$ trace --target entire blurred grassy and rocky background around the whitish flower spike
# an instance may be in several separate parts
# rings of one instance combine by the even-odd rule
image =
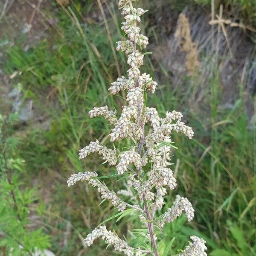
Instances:
[[[256,1],[140,0],[140,7],[149,10],[142,26],[153,52],[144,70],[159,84],[148,104],[184,113],[195,131],[189,142],[175,134],[173,163],[177,192],[196,215],[192,223],[180,217],[167,225],[159,246],[172,240],[174,255],[195,234],[210,256],[255,256]],[[3,122],[0,143],[1,256],[22,244],[22,255],[33,255],[32,245],[60,256],[119,255],[101,242],[90,250],[83,242],[116,214],[111,204],[100,204],[86,183],[68,189],[66,180],[84,170],[111,172],[96,155],[79,161],[78,152],[95,137],[108,143],[107,122],[87,112],[121,107],[108,92],[127,70],[114,49],[123,37],[120,22],[112,0],[0,2],[0,113],[16,113]],[[10,160],[18,164],[6,167]],[[166,205],[172,200],[170,192]],[[133,216],[107,223],[131,244],[127,230],[138,225]]]

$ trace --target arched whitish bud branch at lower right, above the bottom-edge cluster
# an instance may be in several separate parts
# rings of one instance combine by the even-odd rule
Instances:
[[[189,202],[187,198],[183,198],[180,195],[176,195],[176,200],[173,203],[172,209],[169,208],[167,212],[164,214],[163,220],[165,222],[172,222],[177,217],[179,217],[182,212],[185,212],[185,215],[188,219],[188,221],[192,221],[194,218],[194,209],[192,207],[192,204]]]

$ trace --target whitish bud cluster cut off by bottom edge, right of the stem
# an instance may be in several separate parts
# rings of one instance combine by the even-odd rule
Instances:
[[[179,256],[207,256],[205,250],[207,247],[205,246],[204,239],[200,239],[197,236],[190,236],[190,239],[193,242],[189,242],[189,245],[183,250]]]

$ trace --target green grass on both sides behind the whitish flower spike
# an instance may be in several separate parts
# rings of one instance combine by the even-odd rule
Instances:
[[[97,155],[84,161],[79,161],[77,155],[90,140],[96,137],[105,140],[110,131],[105,120],[90,119],[87,112],[101,105],[120,110],[119,98],[110,96],[107,90],[117,73],[104,25],[86,23],[82,26],[76,9],[69,8],[66,12],[58,13],[62,37],[45,40],[29,52],[23,52],[19,45],[9,48],[4,71],[23,72],[18,82],[23,85],[25,97],[32,98],[41,113],[51,119],[47,131],[40,126],[33,129],[33,121],[30,123],[31,129],[23,137],[20,154],[26,160],[24,179],[29,180],[28,183],[32,178],[39,181],[39,191],[46,204],[44,228],[52,237],[52,250],[61,256],[79,252],[103,256],[106,255],[104,246],[84,249],[81,238],[116,212],[108,202],[99,205],[101,199],[96,189],[85,183],[68,189],[66,180],[71,173],[87,169],[100,175],[113,172],[113,167],[99,163]],[[113,11],[113,17],[116,16]],[[115,24],[110,19],[109,26],[115,28]],[[119,27],[116,27],[112,31],[113,42],[119,35]],[[118,59],[124,73],[127,67],[124,55],[118,53]],[[157,63],[151,62],[148,56],[147,59],[144,70],[154,74]],[[209,255],[256,255],[256,127],[247,128],[242,96],[233,109],[218,108],[220,79],[217,71],[212,74],[209,88],[205,89],[207,96],[196,107],[192,108],[190,98],[196,90],[196,79],[185,78],[185,90],[184,84],[169,84],[168,74],[156,95],[148,99],[148,105],[156,107],[160,114],[173,109],[185,113],[185,119],[190,120],[189,125],[195,131],[192,141],[175,135],[179,150],[173,157],[174,163],[178,163],[177,193],[186,195],[192,202],[195,221],[187,224],[180,218],[166,226],[160,248],[161,244],[168,244],[175,238],[171,252],[177,253],[177,247],[186,244],[190,235],[197,234],[207,241]],[[121,147],[122,143],[116,146]],[[123,185],[115,179],[105,182],[115,189]],[[44,191],[49,193],[44,194]],[[173,197],[170,193],[169,205]],[[63,244],[68,223],[71,223],[71,231],[67,244]],[[111,220],[108,226],[121,236],[128,236],[133,244],[136,241],[132,241],[126,230],[132,230],[137,224],[133,218],[125,217],[117,224]],[[118,255],[111,251],[112,254]]]

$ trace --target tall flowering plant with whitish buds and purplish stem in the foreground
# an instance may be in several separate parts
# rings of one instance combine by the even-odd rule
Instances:
[[[126,241],[119,239],[105,226],[96,228],[86,237],[85,243],[88,246],[93,244],[95,239],[101,237],[107,244],[112,244],[114,250],[125,255],[142,256],[149,253],[158,256],[157,248],[153,246],[155,235],[152,230],[150,231],[150,227],[152,225],[151,229],[153,229],[154,214],[165,204],[164,197],[167,194],[167,188],[177,188],[177,180],[170,169],[173,147],[171,136],[173,132],[180,132],[192,139],[194,132],[191,127],[185,125],[180,112],[166,112],[166,115],[161,117],[155,108],[145,106],[145,93],[148,91],[154,93],[157,89],[157,82],[149,74],[141,73],[139,69],[143,65],[145,56],[141,50],[147,47],[148,38],[140,34],[141,29],[138,27],[141,16],[146,11],[134,8],[135,1],[118,0],[118,5],[124,16],[121,29],[128,38],[116,42],[116,50],[127,55],[129,69],[126,76],[117,78],[108,89],[112,94],[125,90],[122,96],[126,94],[124,96],[126,105],[122,106],[122,112],[119,115],[116,111],[110,111],[108,106],[95,107],[89,112],[91,118],[103,116],[113,125],[109,134],[111,143],[125,138],[128,138],[129,142],[127,145],[123,145],[125,150],[119,151],[115,148],[107,148],[96,140],[82,148],[79,153],[79,159],[87,157],[91,152],[99,153],[105,161],[104,163],[108,162],[109,165],[115,166],[117,175],[122,175],[121,179],[123,180],[126,179],[127,189],[120,190],[116,195],[97,177],[96,172],[73,174],[67,180],[67,184],[72,186],[77,181],[87,180],[91,186],[97,188],[103,200],[111,201],[120,212],[127,208],[139,211],[140,220],[148,227],[148,234],[145,234],[145,238],[150,237],[154,252],[129,247]],[[145,128],[147,123],[151,126],[148,129]],[[143,168],[144,166],[146,168]],[[133,205],[126,203],[118,195],[125,196],[126,198],[124,198],[130,200]],[[192,204],[187,198],[177,195],[172,208],[160,215],[156,224],[163,227],[166,222],[174,221],[182,212],[185,213],[188,221],[194,217]],[[191,239],[193,242],[190,242],[179,256],[205,256],[205,241],[195,236],[192,236]]]

